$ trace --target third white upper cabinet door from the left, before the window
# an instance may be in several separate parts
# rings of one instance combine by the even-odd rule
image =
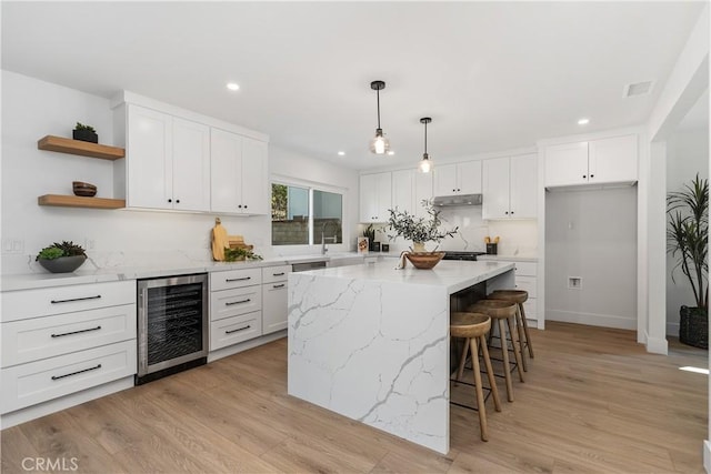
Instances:
[[[210,200],[212,212],[239,213],[242,200],[242,137],[210,130]]]

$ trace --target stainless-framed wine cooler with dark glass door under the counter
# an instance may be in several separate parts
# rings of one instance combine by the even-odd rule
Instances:
[[[140,385],[207,363],[208,275],[138,281]]]

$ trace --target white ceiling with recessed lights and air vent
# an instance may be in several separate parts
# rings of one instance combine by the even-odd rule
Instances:
[[[435,163],[644,123],[703,6],[3,1],[2,68],[129,90],[353,169],[414,165],[422,117]],[[373,80],[393,157],[368,151]],[[641,81],[650,94],[623,98]]]

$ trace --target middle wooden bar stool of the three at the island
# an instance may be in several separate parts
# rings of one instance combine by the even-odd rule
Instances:
[[[523,380],[523,366],[521,363],[521,354],[519,353],[519,344],[517,344],[515,331],[513,330],[517,305],[504,300],[481,300],[467,309],[472,313],[484,313],[499,322],[499,335],[501,336],[501,355],[503,359],[503,377],[507,382],[507,396],[509,402],[513,402],[513,382],[511,380],[511,371],[515,367],[519,372],[519,380]],[[503,321],[507,321],[509,335],[511,336],[511,349],[513,350],[514,363],[509,360],[509,344],[507,342],[507,332]],[[493,332],[493,330],[492,330]]]

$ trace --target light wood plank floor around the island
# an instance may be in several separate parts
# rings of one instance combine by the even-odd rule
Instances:
[[[488,403],[488,443],[452,406],[448,455],[288,396],[284,339],[4,430],[2,473],[26,457],[76,457],[84,473],[703,472],[707,376],[678,367],[707,367],[705,351],[652,355],[630,331],[547,326],[515,402]]]

